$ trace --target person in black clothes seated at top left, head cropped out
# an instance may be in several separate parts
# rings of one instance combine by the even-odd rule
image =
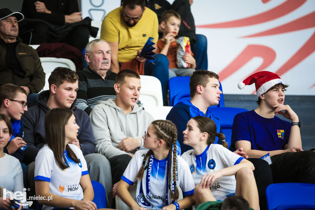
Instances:
[[[32,22],[30,44],[50,43],[47,23],[62,26],[82,20],[82,12],[79,12],[77,0],[24,0],[22,13],[26,18],[44,20]],[[89,42],[89,28],[83,25],[77,26],[61,42],[70,44],[82,51]]]

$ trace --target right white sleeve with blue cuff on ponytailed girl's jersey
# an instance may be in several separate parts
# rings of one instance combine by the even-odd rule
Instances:
[[[234,152],[231,152],[230,150],[226,149],[222,145],[215,144],[213,146],[216,146],[217,156],[220,157],[221,161],[228,167],[234,166],[240,163],[243,159],[245,159],[239,155],[236,155]]]

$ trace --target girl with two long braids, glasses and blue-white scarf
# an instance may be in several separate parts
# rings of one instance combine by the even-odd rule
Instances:
[[[169,120],[155,120],[148,127],[143,136],[147,149],[135,153],[117,188],[117,194],[131,209],[178,210],[194,205],[195,185],[187,163],[176,155],[176,138],[176,126]],[[136,181],[134,200],[128,188]]]

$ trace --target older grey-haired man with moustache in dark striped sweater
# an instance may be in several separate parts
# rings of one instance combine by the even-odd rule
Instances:
[[[77,72],[79,90],[76,106],[90,114],[97,102],[116,98],[114,84],[117,73],[109,70],[111,48],[103,39],[94,39],[86,45],[85,60],[88,67]],[[137,102],[139,103],[140,101]]]

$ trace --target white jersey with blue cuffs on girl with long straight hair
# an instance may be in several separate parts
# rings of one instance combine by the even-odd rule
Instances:
[[[80,162],[75,163],[69,158],[67,151],[65,151],[65,157],[69,167],[63,169],[56,162],[53,151],[49,146],[44,145],[43,148],[38,151],[35,159],[35,181],[42,180],[49,182],[49,192],[54,195],[82,200],[83,190],[80,186],[80,179],[82,175],[89,174],[88,168],[82,151],[74,144],[68,145],[77,155]],[[49,210],[53,209],[53,207],[44,205],[43,209]]]

